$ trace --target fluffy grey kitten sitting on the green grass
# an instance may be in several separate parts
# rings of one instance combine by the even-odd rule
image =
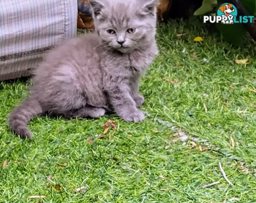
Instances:
[[[28,121],[37,115],[144,119],[137,107],[142,74],[158,53],[157,0],[90,0],[96,33],[53,50],[35,71],[31,95],[10,114],[11,129],[32,138]]]

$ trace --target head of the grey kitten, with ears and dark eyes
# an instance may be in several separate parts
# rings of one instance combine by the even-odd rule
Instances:
[[[90,0],[96,31],[109,49],[129,53],[155,40],[158,0]]]

